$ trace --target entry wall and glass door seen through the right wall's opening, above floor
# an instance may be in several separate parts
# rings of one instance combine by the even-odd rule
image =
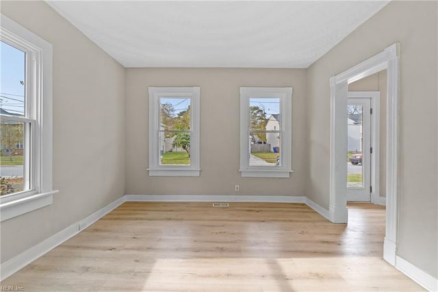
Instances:
[[[385,205],[386,70],[348,85],[347,201]],[[384,81],[384,82],[383,82]],[[372,89],[376,91],[357,91]],[[381,94],[384,95],[381,100]],[[383,156],[383,159],[385,156]],[[382,173],[383,172],[383,173]]]

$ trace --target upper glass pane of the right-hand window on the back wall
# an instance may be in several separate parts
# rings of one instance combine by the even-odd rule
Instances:
[[[249,105],[250,130],[280,130],[279,98],[250,98]]]

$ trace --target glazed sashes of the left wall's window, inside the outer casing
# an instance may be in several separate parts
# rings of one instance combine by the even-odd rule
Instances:
[[[32,143],[36,123],[26,75],[27,53],[1,40],[0,196],[35,191]]]

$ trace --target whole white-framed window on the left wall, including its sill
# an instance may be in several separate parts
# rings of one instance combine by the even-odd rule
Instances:
[[[49,42],[1,15],[1,221],[52,203]]]

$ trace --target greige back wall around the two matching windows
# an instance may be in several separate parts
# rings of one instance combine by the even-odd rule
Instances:
[[[296,195],[305,193],[305,69],[127,69],[126,192],[146,195]],[[201,87],[201,176],[149,177],[149,86]],[[290,178],[241,178],[240,86],[292,86]],[[240,192],[235,193],[235,184]]]

